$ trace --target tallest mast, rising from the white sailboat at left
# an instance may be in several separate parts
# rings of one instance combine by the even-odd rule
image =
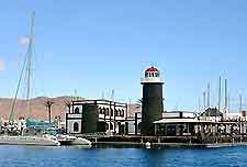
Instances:
[[[30,94],[31,94],[31,75],[32,75],[32,57],[33,57],[33,45],[34,45],[34,16],[35,13],[32,14],[32,23],[31,23],[31,34],[30,34],[30,43],[29,43],[29,52],[27,52],[27,66],[26,66],[26,114],[27,118],[31,116],[31,108],[30,108]]]

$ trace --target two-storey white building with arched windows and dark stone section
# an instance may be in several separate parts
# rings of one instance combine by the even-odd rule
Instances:
[[[66,132],[83,134],[106,132],[111,134],[127,133],[127,104],[110,100],[72,101],[66,113]]]

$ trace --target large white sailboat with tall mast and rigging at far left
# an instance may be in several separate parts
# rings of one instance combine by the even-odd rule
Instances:
[[[14,96],[14,99],[12,101],[10,118],[9,118],[9,125],[8,125],[8,134],[0,136],[0,144],[11,144],[11,145],[42,145],[42,146],[58,146],[60,143],[58,142],[56,136],[49,135],[49,134],[31,134],[25,133],[29,131],[27,123],[34,124],[34,121],[31,121],[31,108],[30,108],[30,87],[31,87],[31,66],[32,66],[32,56],[33,56],[33,45],[34,45],[34,16],[33,13],[32,16],[32,26],[31,26],[31,36],[29,40],[29,48],[27,48],[27,55],[24,60],[23,68],[21,70],[21,76],[18,84],[18,89]],[[18,130],[16,124],[14,123],[13,114],[14,114],[14,108],[15,102],[18,98],[18,92],[20,89],[21,80],[24,70],[26,69],[26,85],[27,85],[27,91],[26,91],[26,113],[27,119],[25,122],[25,125],[21,125],[21,133],[13,133]],[[40,123],[36,123],[36,125],[40,125]],[[42,124],[44,125],[44,124]],[[33,127],[33,126],[32,126]],[[35,131],[35,130],[34,130]]]

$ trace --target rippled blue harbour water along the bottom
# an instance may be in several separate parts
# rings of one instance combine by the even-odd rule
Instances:
[[[205,149],[0,146],[0,167],[247,166],[247,147]]]

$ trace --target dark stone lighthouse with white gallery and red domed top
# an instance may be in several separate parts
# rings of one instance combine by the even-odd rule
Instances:
[[[149,67],[145,70],[145,77],[142,78],[143,99],[142,99],[142,135],[154,135],[155,125],[153,122],[162,119],[162,80],[160,73],[156,67]]]

